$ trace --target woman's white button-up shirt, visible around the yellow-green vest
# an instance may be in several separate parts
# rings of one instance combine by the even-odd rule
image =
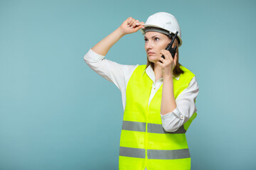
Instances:
[[[122,94],[122,105],[123,108],[125,108],[127,84],[129,78],[134,72],[134,69],[136,69],[139,64],[118,64],[117,62],[112,62],[105,59],[105,56],[97,54],[91,48],[84,56],[84,60],[87,65],[97,74],[100,74],[100,76],[104,77],[118,87]],[[155,81],[154,70],[150,65],[146,68],[145,72],[153,81],[151,94],[149,96],[150,103],[151,99],[156,94],[156,91],[159,89],[161,84],[163,84],[163,78]],[[177,80],[179,79],[179,77],[174,78]],[[197,111],[195,101],[196,97],[198,96],[198,91],[199,87],[196,81],[196,77],[193,77],[188,87],[177,96],[177,107],[174,109],[174,111],[172,111],[171,113],[166,113],[165,115],[161,115],[161,113],[159,113],[161,115],[161,121],[164,130],[166,130],[167,132],[175,132],[176,130],[178,130],[178,128],[181,127],[181,125],[186,123],[186,121],[191,118],[193,113]]]

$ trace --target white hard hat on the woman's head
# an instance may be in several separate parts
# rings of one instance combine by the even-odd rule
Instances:
[[[149,18],[147,18],[144,26],[145,28],[140,29],[140,31],[142,32],[142,35],[145,35],[145,33],[149,30],[164,33],[166,35],[175,34],[176,31],[178,31],[178,35],[177,35],[179,40],[178,47],[181,47],[182,45],[181,28],[178,25],[178,21],[173,15],[171,15],[171,13],[166,13],[166,12],[154,13],[153,15],[149,16]],[[148,28],[153,28],[153,29],[148,29]],[[154,28],[161,28],[164,31],[161,31],[160,29],[159,29],[160,31],[154,30]]]

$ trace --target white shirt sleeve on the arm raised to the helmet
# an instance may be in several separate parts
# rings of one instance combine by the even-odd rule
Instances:
[[[126,87],[127,77],[137,65],[124,65],[105,59],[91,48],[84,56],[85,63],[101,77],[115,84],[120,91]]]

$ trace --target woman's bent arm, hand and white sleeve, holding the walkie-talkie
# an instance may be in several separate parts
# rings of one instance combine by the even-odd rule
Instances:
[[[168,50],[160,52],[165,60],[157,62],[162,68],[163,90],[161,98],[161,120],[164,130],[175,132],[196,112],[196,96],[198,96],[198,84],[196,77],[191,79],[190,84],[178,97],[174,98],[173,70],[177,63],[177,52],[174,59]]]

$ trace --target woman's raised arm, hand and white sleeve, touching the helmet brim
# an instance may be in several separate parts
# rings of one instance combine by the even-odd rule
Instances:
[[[117,30],[108,35],[106,38],[97,43],[92,47],[87,54],[84,56],[86,64],[94,70],[101,77],[107,79],[108,81],[114,83],[120,91],[126,86],[126,81],[131,72],[137,65],[124,65],[117,62],[112,62],[105,59],[105,55],[110,50],[112,45],[116,43],[122,36],[135,33],[141,26],[139,21],[135,21],[132,17],[127,18],[126,21],[122,23]],[[142,22],[143,23],[143,22]],[[127,26],[129,25],[129,27]],[[130,26],[133,26],[130,27]]]

